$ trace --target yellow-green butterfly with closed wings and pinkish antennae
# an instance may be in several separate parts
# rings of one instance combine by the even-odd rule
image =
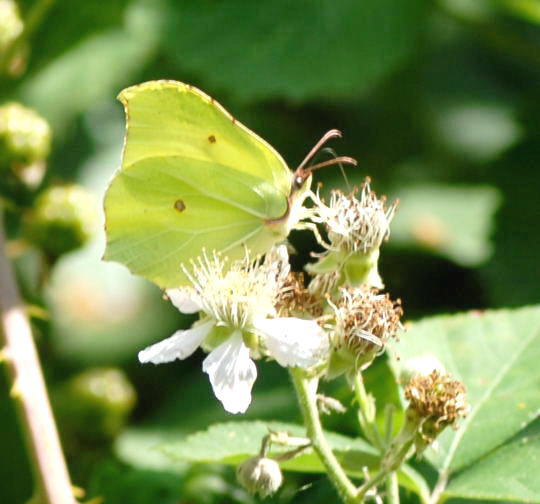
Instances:
[[[182,82],[124,89],[122,164],[105,195],[104,259],[162,288],[189,283],[182,264],[203,250],[237,259],[264,254],[301,219],[312,171],[329,131],[292,172],[273,147],[213,98]]]

